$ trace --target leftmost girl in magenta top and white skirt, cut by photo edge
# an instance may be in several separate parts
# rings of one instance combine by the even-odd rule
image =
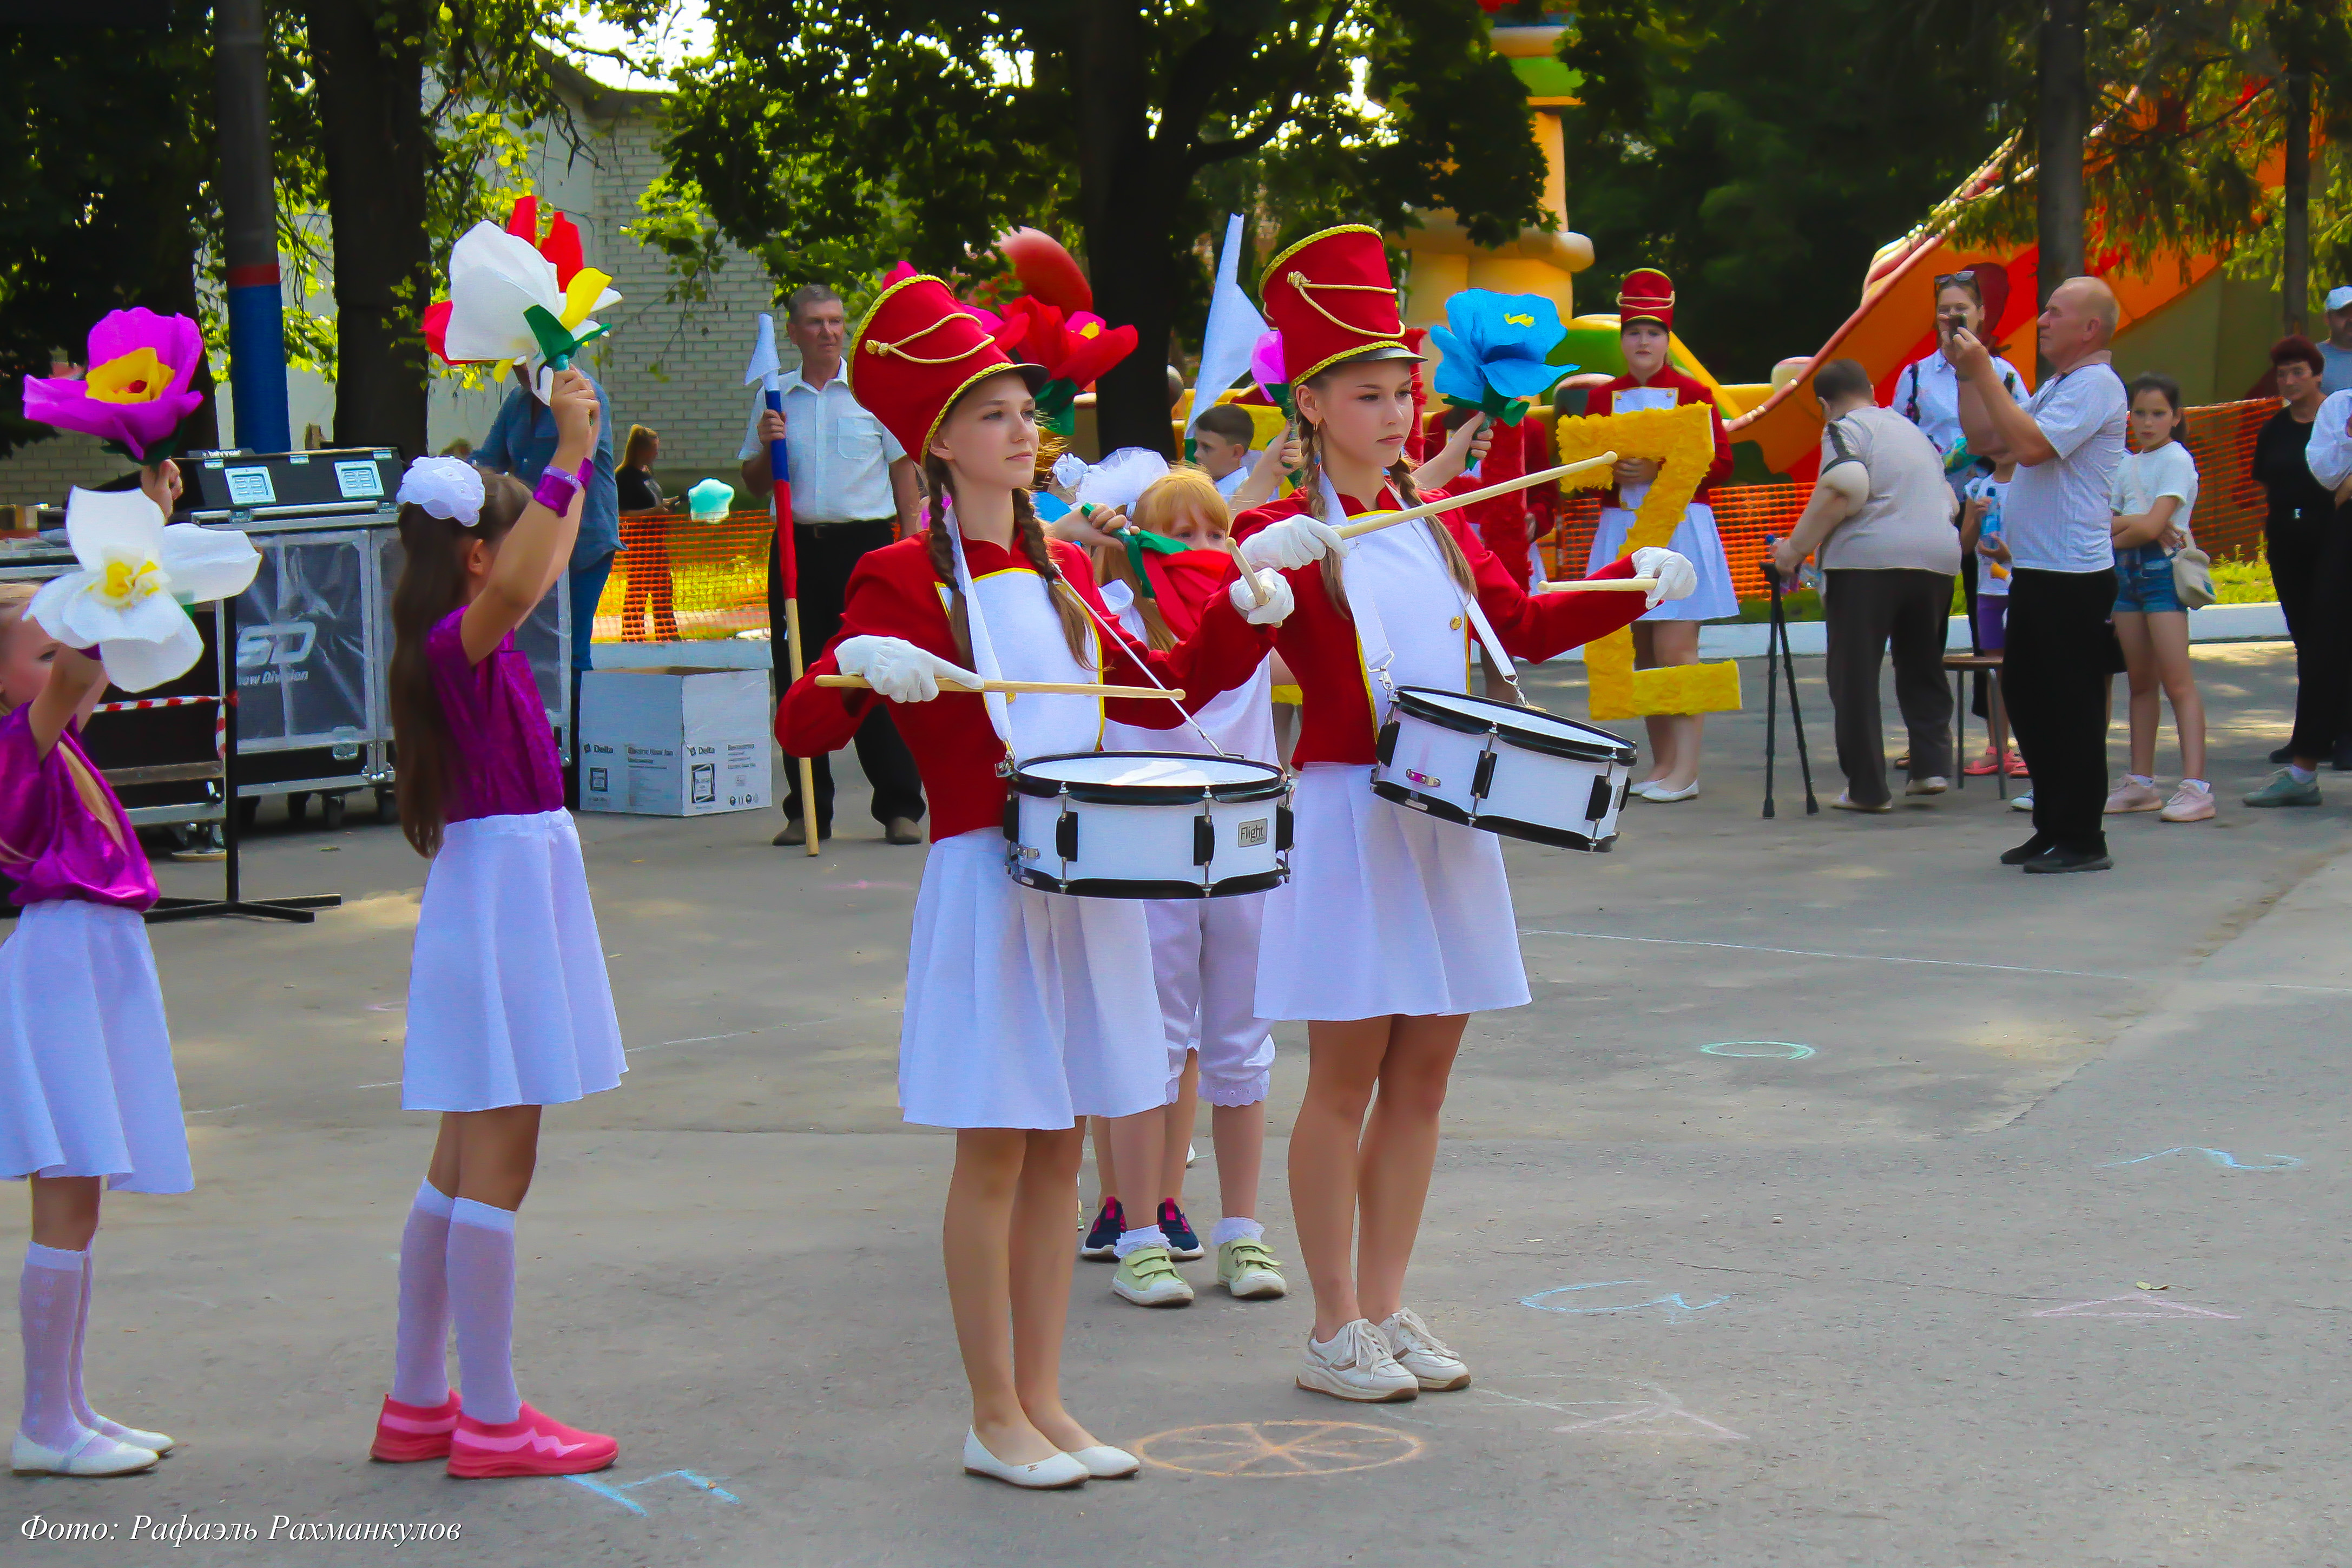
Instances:
[[[0,945],[0,1175],[33,1185],[12,1467],[122,1476],[153,1467],[172,1439],[115,1425],[82,1396],[99,1182],[195,1182],[141,919],[155,877],[75,738],[106,670],[26,618],[31,599],[33,583],[0,585],[0,870],[24,910]]]

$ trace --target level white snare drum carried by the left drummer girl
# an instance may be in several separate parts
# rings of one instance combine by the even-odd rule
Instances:
[[[1030,757],[1004,797],[1016,882],[1077,898],[1225,898],[1291,875],[1291,780],[1188,752]]]

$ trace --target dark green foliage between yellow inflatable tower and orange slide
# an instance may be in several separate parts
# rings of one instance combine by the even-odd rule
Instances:
[[[2013,92],[1994,40],[1955,28],[1912,47],[1891,9],[1583,0],[1559,49],[1583,78],[1562,132],[1595,294],[1665,268],[1675,331],[1733,381],[1818,348],[1860,303],[1872,254],[1999,143]]]

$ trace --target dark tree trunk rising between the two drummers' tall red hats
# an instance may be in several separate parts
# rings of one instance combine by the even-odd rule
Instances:
[[[1176,237],[1188,172],[1155,146],[1148,28],[1136,0],[1089,0],[1080,14],[1077,202],[1087,230],[1094,313],[1136,329],[1136,353],[1096,383],[1103,451],[1174,449],[1167,353],[1176,301]]]

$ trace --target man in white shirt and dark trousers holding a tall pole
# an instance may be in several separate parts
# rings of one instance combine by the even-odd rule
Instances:
[[[783,334],[800,348],[800,369],[783,374],[783,414],[771,414],[753,388],[753,411],[743,428],[743,487],[762,501],[774,494],[767,444],[781,440],[793,487],[793,555],[800,567],[800,637],[814,663],[818,649],[842,630],[842,595],[849,571],[868,550],[901,531],[913,534],[922,512],[915,463],[898,449],[882,421],[858,407],[842,376],[842,343],[849,317],[842,296],[821,282],[793,289]],[[776,661],[776,693],[793,679],[783,642],[783,574],[776,548],[767,555],[767,623]],[[920,844],[922,776],[915,755],[898,738],[887,703],[875,703],[858,724],[858,766],[875,788],[873,813],[891,844]],[[807,844],[800,818],[800,769],[790,766],[783,799],[783,832],[776,844]],[[833,766],[811,759],[816,776],[816,837],[833,832]]]

